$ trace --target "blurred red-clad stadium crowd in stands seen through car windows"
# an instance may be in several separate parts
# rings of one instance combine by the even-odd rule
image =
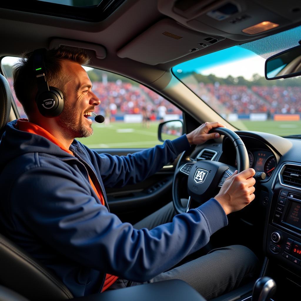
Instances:
[[[12,79],[8,78],[13,98],[16,99]],[[219,113],[301,113],[301,87],[266,87],[198,83],[189,88]],[[163,118],[163,114],[182,112],[172,103],[144,85],[129,82],[93,82],[93,91],[101,100],[95,113],[109,117],[124,114],[147,114],[148,120]],[[16,102],[21,117],[22,106]],[[147,113],[145,113],[147,112]]]

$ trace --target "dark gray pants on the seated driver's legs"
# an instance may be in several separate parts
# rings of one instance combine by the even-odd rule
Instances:
[[[171,222],[175,214],[172,203],[169,203],[136,223],[134,228],[152,229]],[[207,255],[161,273],[144,283],[181,279],[209,300],[250,281],[257,276],[257,269],[258,259],[255,254],[247,247],[234,245],[212,250]],[[142,283],[118,279],[108,290],[139,284]]]

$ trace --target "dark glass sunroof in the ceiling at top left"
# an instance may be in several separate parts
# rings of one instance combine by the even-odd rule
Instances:
[[[112,14],[126,0],[30,0],[0,1],[0,8],[55,16],[87,22],[100,22]]]

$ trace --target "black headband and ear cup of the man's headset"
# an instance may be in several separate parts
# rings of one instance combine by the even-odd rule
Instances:
[[[33,51],[33,71],[38,85],[36,104],[39,112],[48,118],[59,116],[64,108],[64,96],[61,90],[55,87],[48,87],[44,56],[46,49]]]

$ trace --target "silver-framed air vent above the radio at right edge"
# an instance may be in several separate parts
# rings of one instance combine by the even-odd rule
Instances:
[[[285,164],[279,172],[280,183],[301,190],[301,165]]]

